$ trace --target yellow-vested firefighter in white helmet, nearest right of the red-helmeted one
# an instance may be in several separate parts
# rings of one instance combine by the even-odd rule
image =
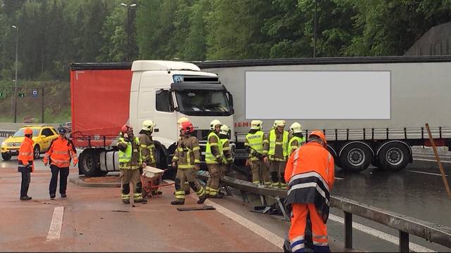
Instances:
[[[221,198],[218,195],[219,180],[221,179],[221,164],[223,163],[223,148],[219,145],[219,132],[221,131],[221,122],[214,119],[210,122],[210,134],[205,148],[205,163],[209,167],[209,180],[206,182],[206,194],[209,197]]]

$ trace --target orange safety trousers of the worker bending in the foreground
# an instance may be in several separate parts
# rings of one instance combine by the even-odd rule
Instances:
[[[323,222],[321,216],[316,212],[313,203],[292,204],[291,227],[290,233],[288,233],[291,252],[305,252],[304,233],[307,225],[307,214],[310,214],[314,252],[330,252],[326,223]]]

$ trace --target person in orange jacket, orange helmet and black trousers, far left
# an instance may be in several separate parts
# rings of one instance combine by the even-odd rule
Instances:
[[[28,188],[30,186],[31,172],[35,171],[33,164],[33,131],[26,128],[23,131],[25,138],[20,144],[18,160],[18,171],[22,174],[22,182],[20,183],[20,200],[31,200],[28,196]]]

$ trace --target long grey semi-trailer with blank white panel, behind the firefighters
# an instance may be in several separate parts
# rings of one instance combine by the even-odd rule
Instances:
[[[293,117],[287,120],[287,126],[293,122],[302,124],[305,136],[311,130],[323,130],[335,164],[346,171],[364,171],[370,164],[389,171],[406,167],[413,162],[412,146],[431,145],[425,123],[431,125],[435,145],[451,149],[451,56],[213,60],[196,64],[204,71],[218,74],[226,89],[235,95],[234,141],[237,161],[246,157],[243,143],[252,118],[246,115],[245,87],[246,78],[252,72],[388,72],[390,93],[387,100],[390,106],[385,119]],[[308,98],[312,91],[317,91],[315,85],[316,81],[309,83],[309,88],[298,94],[299,100]],[[277,86],[278,83],[274,82],[273,85],[262,84],[259,89],[275,91]],[[348,92],[351,95],[355,93],[352,90]],[[350,115],[353,110],[357,112],[364,107],[364,103],[369,103],[366,100],[374,100],[375,97],[376,106],[386,106],[383,103],[378,105],[377,95],[371,92],[362,95],[356,93],[355,96],[361,96],[360,100],[363,102],[354,103],[350,107]],[[270,101],[266,100],[268,103]],[[337,108],[339,103],[328,103],[325,100],[321,104],[326,105],[329,112],[341,113]],[[282,106],[279,110],[302,112],[312,108]],[[264,130],[269,131],[273,126],[273,119],[264,118],[263,122]]]

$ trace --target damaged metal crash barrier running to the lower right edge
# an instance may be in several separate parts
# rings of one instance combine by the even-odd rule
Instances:
[[[208,179],[208,176],[209,173],[207,171],[199,171],[199,179],[205,180]],[[254,186],[248,181],[233,179],[230,176],[225,176],[221,181],[221,185],[240,190],[243,202],[249,202],[247,193],[259,195],[264,205],[266,205],[266,197],[274,198],[278,202],[283,216],[285,219],[288,219],[287,211],[282,201],[287,197],[286,190],[273,190],[271,188]],[[371,207],[353,200],[348,200],[345,197],[330,196],[330,201],[332,207],[342,210],[345,214],[345,248],[347,249],[352,249],[352,214],[397,229],[400,238],[400,252],[409,252],[409,235],[416,235],[429,242],[435,242],[451,249],[451,228],[447,226],[421,221],[395,212]]]

